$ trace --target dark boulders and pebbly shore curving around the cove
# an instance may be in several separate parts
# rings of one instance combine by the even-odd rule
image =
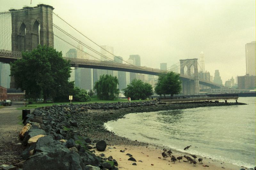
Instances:
[[[105,122],[123,118],[128,113],[243,104],[217,102],[166,104],[150,100],[36,108],[23,121],[24,125],[29,123],[32,126],[28,131],[23,128],[24,134],[20,134],[26,149],[21,154],[24,160],[15,166],[23,170],[118,169],[115,158],[111,156],[105,158],[104,154],[96,156],[94,149],[104,151],[109,145],[145,146],[148,144],[115,135],[104,128]],[[15,166],[0,167],[15,169]]]

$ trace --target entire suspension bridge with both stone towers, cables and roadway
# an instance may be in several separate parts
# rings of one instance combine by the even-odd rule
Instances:
[[[32,50],[38,44],[48,45],[66,54],[75,48],[80,57],[63,56],[70,60],[72,67],[92,68],[102,70],[117,70],[148,75],[159,75],[165,70],[136,66],[126,61],[116,62],[114,54],[104,50],[96,42],[89,39],[76,28],[68,24],[53,12],[50,5],[38,4],[35,7],[23,7],[19,10],[9,10],[0,13],[0,62],[10,63],[20,59],[21,51]],[[118,56],[115,56],[118,58]],[[199,94],[199,84],[211,88],[220,85],[198,78],[197,59],[180,60],[180,80],[183,94]],[[187,68],[185,70],[184,68]]]

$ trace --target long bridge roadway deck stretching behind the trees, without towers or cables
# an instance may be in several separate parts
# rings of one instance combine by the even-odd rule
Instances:
[[[7,50],[0,49],[0,62],[10,63],[20,58],[21,58],[21,52],[7,51]],[[68,57],[63,57],[63,58],[65,58],[66,60],[70,60],[72,67],[79,67],[79,68],[127,71],[127,72],[142,73],[142,74],[149,74],[149,75],[156,75],[156,76],[164,72],[163,70],[153,69],[146,66],[144,67],[133,66],[130,64],[114,63],[111,61],[87,60],[87,59],[68,58]],[[180,75],[180,79],[181,81],[184,79],[194,80],[193,77],[186,76],[186,75]],[[199,84],[210,86],[212,88],[220,88],[220,85],[217,85],[209,81],[200,80],[200,79],[199,79]]]

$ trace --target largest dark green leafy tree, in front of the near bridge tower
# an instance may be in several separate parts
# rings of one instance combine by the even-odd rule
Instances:
[[[58,98],[74,89],[74,83],[68,82],[70,72],[69,61],[48,46],[38,45],[32,51],[22,52],[22,58],[11,63],[16,87],[25,90],[27,98],[43,96],[44,102],[48,97]]]

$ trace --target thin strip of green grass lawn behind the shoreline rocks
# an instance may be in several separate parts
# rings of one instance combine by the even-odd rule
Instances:
[[[86,104],[86,103],[114,103],[114,102],[128,102],[127,99],[117,99],[117,100],[100,100],[98,98],[92,98],[91,101],[86,101],[86,102],[72,102],[72,104]],[[135,101],[145,101],[145,100],[131,100],[131,102]],[[52,105],[60,105],[60,104],[70,104],[70,102],[56,102],[56,103],[33,103],[33,104],[28,104],[26,107],[19,107],[17,108],[18,110],[22,109],[32,109],[32,108],[37,108],[37,107],[44,107],[44,106],[52,106]]]

